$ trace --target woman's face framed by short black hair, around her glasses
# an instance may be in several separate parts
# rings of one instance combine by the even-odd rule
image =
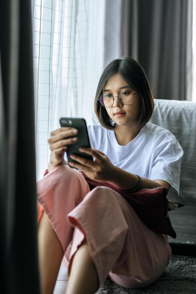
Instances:
[[[124,86],[125,88],[121,88]],[[105,107],[108,116],[116,123],[116,125],[130,125],[131,127],[136,127],[138,124],[138,116],[141,112],[141,99],[139,95],[134,95],[134,101],[131,104],[123,104],[118,97],[115,97],[122,91],[129,90],[132,91],[132,93],[135,93],[136,91],[133,88],[130,88],[120,73],[114,74],[107,80],[103,88],[103,93],[106,89],[107,91],[105,93],[111,94],[114,97],[113,106]],[[122,112],[125,114],[123,116],[116,116],[116,112]]]

